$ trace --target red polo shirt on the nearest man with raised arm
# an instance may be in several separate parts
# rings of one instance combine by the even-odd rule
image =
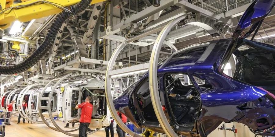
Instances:
[[[90,123],[92,119],[93,105],[90,103],[81,103],[78,105],[81,108],[80,121],[81,123]]]

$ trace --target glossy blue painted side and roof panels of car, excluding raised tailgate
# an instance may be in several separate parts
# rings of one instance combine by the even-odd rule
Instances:
[[[196,119],[196,123],[192,125],[186,125],[182,128],[178,128],[178,132],[186,134],[191,132],[195,127],[201,136],[207,136],[222,122],[237,121],[245,125],[248,125],[253,130],[262,130],[271,127],[275,123],[275,109],[273,98],[267,98],[265,95],[268,93],[260,87],[253,86],[247,83],[240,82],[233,79],[219,71],[219,65],[221,65],[221,58],[225,52],[226,46],[229,43],[229,39],[214,40],[210,43],[199,44],[189,47],[189,49],[182,49],[170,55],[162,64],[159,65],[158,76],[160,78],[160,95],[163,100],[163,106],[167,107],[167,98],[162,94],[167,92],[165,90],[164,76],[168,73],[184,73],[187,74],[191,80],[193,76],[199,77],[207,81],[213,89],[204,92],[194,79],[195,89],[200,93],[201,99],[201,111],[200,115]],[[201,46],[202,45],[202,46]],[[203,54],[196,53],[196,49],[207,45]],[[193,56],[186,58],[177,57],[179,54],[189,51]],[[194,52],[194,53],[192,53]],[[134,91],[138,90],[142,81],[148,79],[148,73],[145,74],[138,82],[131,85],[126,89],[119,97],[114,100],[115,107],[118,111],[121,111],[127,115],[136,126],[144,126],[151,128],[158,132],[161,132],[161,128],[158,124],[148,124],[146,121],[138,122],[142,119],[142,114],[137,111],[137,106],[134,105],[136,98],[134,97]],[[275,84],[274,84],[275,85]],[[149,85],[148,85],[149,86]],[[269,100],[269,101],[259,101]],[[272,101],[270,101],[272,100]],[[245,108],[242,106],[246,104]],[[248,107],[247,104],[251,104]],[[153,110],[152,110],[153,111]],[[131,112],[131,113],[129,113]],[[139,115],[138,115],[139,114]],[[173,117],[170,114],[170,117]],[[258,126],[257,119],[265,118],[268,124],[265,126]],[[204,121],[215,120],[212,127],[208,129],[205,126]],[[175,129],[177,131],[177,129]],[[267,135],[273,135],[267,133]]]

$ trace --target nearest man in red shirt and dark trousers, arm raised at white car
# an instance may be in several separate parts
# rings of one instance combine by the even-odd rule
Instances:
[[[85,102],[75,106],[76,109],[81,108],[80,125],[79,125],[79,137],[87,137],[87,129],[92,119],[93,105],[90,104],[91,97],[88,96]]]

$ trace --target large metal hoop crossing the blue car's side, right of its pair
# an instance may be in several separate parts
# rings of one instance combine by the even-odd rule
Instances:
[[[158,80],[157,80],[157,69],[158,69],[158,58],[160,54],[160,50],[162,47],[162,44],[167,37],[169,31],[172,29],[174,25],[176,25],[181,20],[185,19],[186,15],[180,16],[174,20],[172,20],[170,23],[168,23],[163,30],[160,32],[159,36],[156,39],[156,42],[152,49],[151,58],[149,61],[149,89],[150,89],[150,96],[152,99],[152,105],[156,114],[156,117],[158,121],[160,122],[161,127],[163,128],[164,132],[170,136],[170,137],[178,137],[177,133],[174,131],[174,129],[169,124],[163,109],[162,104],[160,101],[160,94],[158,90]],[[187,25],[193,25],[201,27],[202,29],[206,30],[209,34],[215,32],[213,28],[208,26],[204,23],[188,23]]]

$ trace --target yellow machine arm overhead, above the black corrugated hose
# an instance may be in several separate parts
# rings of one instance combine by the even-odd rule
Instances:
[[[77,4],[80,0],[22,0],[13,4],[13,0],[0,0],[0,29],[8,28],[12,22],[31,21],[62,12],[65,7]],[[91,4],[106,0],[92,0]]]

